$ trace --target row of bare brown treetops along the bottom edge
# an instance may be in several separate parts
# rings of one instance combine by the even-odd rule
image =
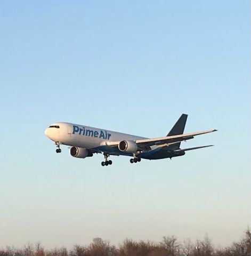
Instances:
[[[94,238],[89,245],[74,245],[71,250],[65,247],[45,250],[37,243],[25,245],[23,249],[5,247],[0,256],[250,256],[251,233],[247,229],[238,242],[225,248],[216,248],[208,236],[203,240],[179,242],[175,236],[165,236],[159,243],[125,239],[118,246],[111,245],[101,238]]]

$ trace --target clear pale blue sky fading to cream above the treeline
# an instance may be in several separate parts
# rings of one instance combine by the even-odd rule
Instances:
[[[227,245],[250,224],[249,1],[1,1],[0,246],[176,235]],[[161,137],[179,158],[55,153],[56,121]]]

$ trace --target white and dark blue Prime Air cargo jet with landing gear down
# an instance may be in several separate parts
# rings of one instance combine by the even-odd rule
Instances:
[[[60,145],[70,146],[70,155],[77,158],[103,153],[102,166],[112,164],[112,161],[108,160],[109,156],[131,156],[130,163],[140,162],[141,159],[172,159],[172,157],[185,155],[185,151],[214,146],[180,148],[182,141],[193,139],[196,135],[217,131],[214,129],[183,133],[187,117],[187,114],[182,114],[168,134],[158,138],[138,137],[66,122],[51,124],[45,130],[45,135],[54,141],[56,153],[61,153]]]

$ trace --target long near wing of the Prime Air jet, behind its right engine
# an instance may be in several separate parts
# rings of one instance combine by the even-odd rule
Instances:
[[[172,135],[167,137],[158,137],[158,138],[152,138],[152,139],[141,139],[141,140],[134,140],[134,142],[139,146],[140,149],[147,150],[150,149],[150,146],[154,145],[163,145],[166,144],[166,146],[172,145],[174,143],[190,140],[193,139],[193,137],[205,133],[215,132],[217,130],[206,130],[206,131],[200,131],[200,132],[190,132],[190,133],[184,133],[179,135]],[[106,141],[107,146],[118,146],[120,141]]]

